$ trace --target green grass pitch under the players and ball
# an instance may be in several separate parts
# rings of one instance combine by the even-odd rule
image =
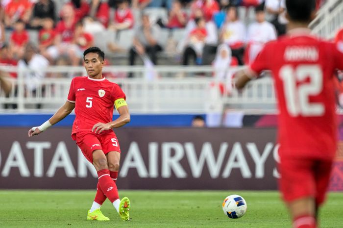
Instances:
[[[243,196],[240,219],[224,215],[221,203]],[[111,221],[87,221],[95,191],[0,190],[0,228],[291,228],[275,191],[120,191],[131,200],[131,221],[122,222],[108,200]],[[343,228],[343,193],[330,193],[320,211],[321,228]]]

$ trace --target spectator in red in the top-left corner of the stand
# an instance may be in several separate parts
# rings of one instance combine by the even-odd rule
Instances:
[[[11,28],[19,19],[28,25],[31,13],[32,3],[29,0],[11,0],[5,8],[4,23],[6,28]]]

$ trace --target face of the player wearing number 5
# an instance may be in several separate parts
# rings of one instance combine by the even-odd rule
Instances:
[[[99,78],[101,78],[104,63],[105,62],[99,58],[98,53],[91,52],[85,55],[83,66],[86,68],[88,76],[99,76]]]

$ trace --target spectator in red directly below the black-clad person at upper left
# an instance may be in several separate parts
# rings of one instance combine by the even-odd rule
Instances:
[[[38,49],[40,53],[45,55],[47,48],[54,44],[56,31],[53,29],[53,20],[50,17],[46,17],[42,20],[42,26],[43,28],[39,30],[38,34]]]

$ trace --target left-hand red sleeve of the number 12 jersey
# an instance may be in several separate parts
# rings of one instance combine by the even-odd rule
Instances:
[[[250,64],[249,70],[250,76],[257,77],[260,75],[260,73],[264,70],[269,70],[269,62],[271,59],[269,59],[269,50],[270,50],[270,44],[266,44],[265,47],[260,51],[260,53],[257,55],[255,60]]]

